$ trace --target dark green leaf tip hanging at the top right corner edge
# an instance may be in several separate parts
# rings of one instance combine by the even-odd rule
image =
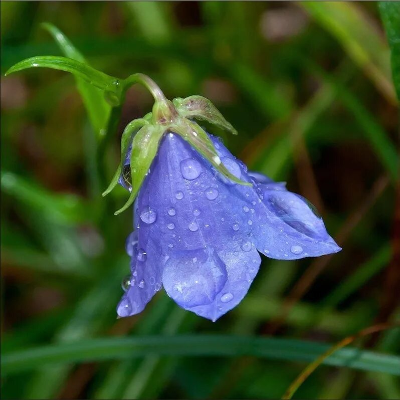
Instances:
[[[400,100],[400,3],[379,2],[378,5],[391,50],[394,88]]]

